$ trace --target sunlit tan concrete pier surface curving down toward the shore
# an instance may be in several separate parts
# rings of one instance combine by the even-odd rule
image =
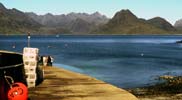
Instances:
[[[90,76],[44,67],[44,81],[29,88],[30,100],[138,100],[129,92]]]

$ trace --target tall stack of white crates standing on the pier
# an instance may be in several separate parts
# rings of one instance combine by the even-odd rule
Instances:
[[[36,69],[38,67],[38,48],[25,47],[23,50],[23,63],[27,76],[28,87],[35,87],[37,80]]]

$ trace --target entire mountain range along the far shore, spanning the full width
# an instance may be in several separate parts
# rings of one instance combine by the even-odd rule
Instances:
[[[164,18],[146,20],[130,10],[121,10],[113,18],[95,12],[67,15],[37,15],[15,8],[7,9],[0,3],[0,34],[182,34],[182,20],[173,26]]]

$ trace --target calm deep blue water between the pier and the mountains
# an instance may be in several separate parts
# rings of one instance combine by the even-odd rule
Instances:
[[[31,47],[54,57],[54,65],[121,88],[182,75],[182,36],[31,36]],[[26,36],[0,35],[0,50],[22,52]]]

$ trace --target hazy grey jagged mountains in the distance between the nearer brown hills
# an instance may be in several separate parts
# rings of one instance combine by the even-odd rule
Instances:
[[[48,28],[62,28],[69,30],[73,34],[89,33],[92,29],[106,24],[109,20],[99,12],[93,14],[69,13],[67,15],[53,15],[51,13],[37,15],[31,12],[26,13],[26,15]]]

